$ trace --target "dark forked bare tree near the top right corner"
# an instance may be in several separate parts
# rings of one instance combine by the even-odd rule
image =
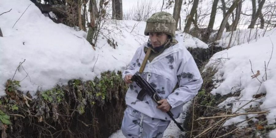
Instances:
[[[257,20],[258,17],[261,20],[261,27],[260,28],[264,27],[264,19],[263,19],[262,9],[263,9],[263,5],[264,5],[265,1],[266,0],[258,0],[258,3],[259,3],[258,10],[257,10],[254,18],[253,18],[253,14],[252,14],[252,20],[251,20],[251,23],[248,26],[248,28],[254,28],[256,20]],[[255,2],[255,5],[256,5],[256,2]],[[253,2],[252,2],[252,6],[253,6]]]

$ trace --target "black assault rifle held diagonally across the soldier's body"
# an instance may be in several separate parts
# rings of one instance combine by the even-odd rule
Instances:
[[[140,75],[139,72],[136,72],[133,76],[132,76],[132,81],[136,82],[136,84],[142,88],[142,90],[139,92],[137,99],[140,101],[143,101],[144,97],[146,94],[148,94],[151,99],[157,104],[157,105],[161,105],[161,103],[158,103],[158,101],[161,100],[160,96],[157,94],[157,90],[151,86],[151,84],[149,82],[147,82],[144,78],[142,78],[142,76]],[[175,119],[173,118],[173,114],[171,113],[171,111],[166,112],[169,117],[174,121],[174,123],[178,126],[178,128],[181,131],[184,131],[184,129],[181,127],[180,123],[176,122]]]

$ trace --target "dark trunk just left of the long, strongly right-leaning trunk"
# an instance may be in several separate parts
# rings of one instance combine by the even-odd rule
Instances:
[[[216,13],[217,13],[217,3],[218,3],[218,1],[219,0],[214,0],[214,2],[213,2],[208,28],[207,28],[206,32],[204,33],[204,36],[202,37],[202,41],[205,42],[205,43],[208,42],[209,37],[211,35],[211,32],[213,31],[215,18],[216,18]]]

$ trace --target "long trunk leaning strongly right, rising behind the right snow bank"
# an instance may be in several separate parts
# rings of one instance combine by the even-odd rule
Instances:
[[[217,32],[217,36],[216,36],[215,40],[220,40],[230,14],[235,10],[235,8],[237,7],[237,5],[240,2],[241,2],[241,0],[235,0],[234,3],[231,5],[231,7],[228,9],[228,11],[225,13],[225,17],[223,18],[223,20],[220,23],[220,29]]]

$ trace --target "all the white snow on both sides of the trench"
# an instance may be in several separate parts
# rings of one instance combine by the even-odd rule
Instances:
[[[0,27],[4,36],[0,37],[0,96],[5,95],[6,81],[13,78],[19,63],[24,60],[13,79],[21,81],[19,90],[24,93],[29,91],[34,95],[37,89],[44,91],[55,85],[66,85],[71,79],[93,80],[104,71],[123,70],[128,66],[136,49],[148,40],[148,37],[144,36],[145,22],[108,20],[101,30],[94,50],[86,41],[86,32],[54,23],[29,0],[1,1],[0,13],[10,9],[10,12],[0,16]],[[266,116],[268,124],[274,124],[276,118],[276,55],[275,48],[272,53],[271,44],[271,41],[276,44],[275,30],[266,31],[262,37],[263,30],[259,29],[257,34],[260,36],[257,35],[257,39],[252,36],[249,43],[248,29],[238,30],[240,32],[235,32],[237,35],[234,37],[237,39],[233,41],[236,46],[216,53],[207,65],[218,69],[214,79],[220,82],[216,83],[212,94],[225,95],[241,90],[239,99],[229,98],[221,104],[231,101],[232,111],[254,99],[254,94],[266,93],[265,97],[244,106],[243,109],[259,106],[259,102],[263,102],[260,108],[270,110]],[[255,29],[251,31],[251,34],[256,34]],[[225,38],[228,35],[229,33],[224,33],[221,43],[227,42]],[[242,37],[248,39],[243,40]],[[118,46],[115,49],[109,46],[107,39],[114,39]],[[176,39],[185,47],[208,48],[207,44],[185,33],[177,32]],[[261,73],[257,77],[259,80],[251,78],[253,73],[249,59],[254,74],[257,70]],[[244,112],[243,109],[239,109],[239,112]],[[238,122],[241,117],[244,118],[233,118],[228,123]],[[181,122],[181,119],[180,117],[177,121]],[[178,133],[178,128],[172,122],[164,136]],[[269,135],[275,137],[275,130]],[[112,136],[115,137],[122,137],[120,131]]]

